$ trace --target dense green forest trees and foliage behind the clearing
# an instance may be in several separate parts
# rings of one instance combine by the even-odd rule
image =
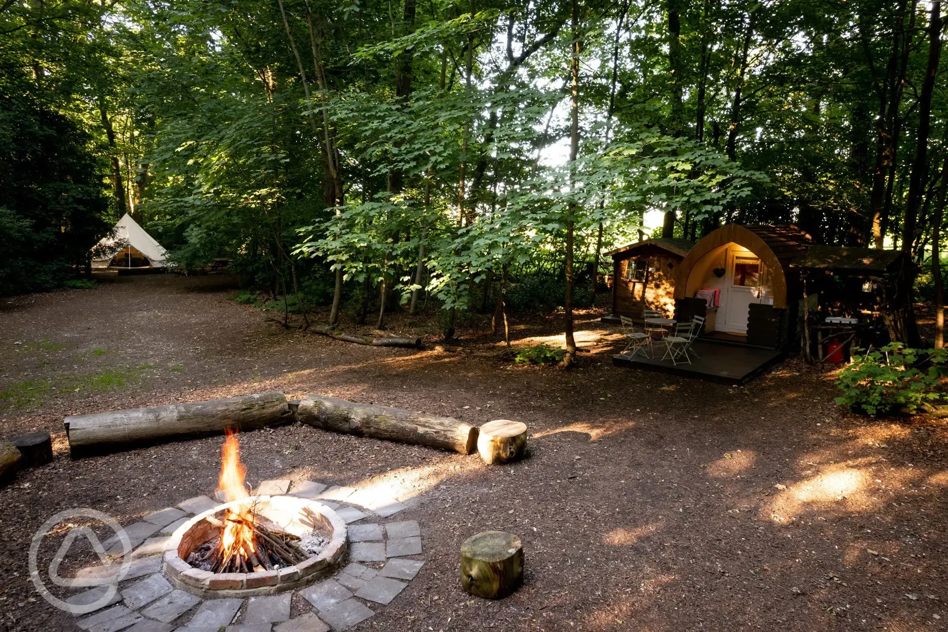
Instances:
[[[927,264],[941,26],[915,0],[0,2],[0,292],[61,283],[126,211],[185,268],[334,323],[426,304],[448,336],[504,292],[591,301],[647,212]]]

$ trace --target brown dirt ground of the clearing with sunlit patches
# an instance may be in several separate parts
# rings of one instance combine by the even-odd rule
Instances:
[[[232,295],[224,276],[160,275],[0,300],[0,439],[49,431],[56,451],[0,489],[0,630],[73,629],[28,579],[46,518],[127,523],[215,486],[220,438],[70,460],[64,415],[268,389],[530,427],[531,458],[503,467],[299,424],[242,436],[252,481],[411,501],[399,517],[422,524],[427,563],[357,629],[948,629],[943,423],[850,415],[831,373],[794,360],[743,388],[616,368],[620,336],[595,314],[564,371],[285,331]],[[515,344],[559,326],[535,318]],[[524,543],[525,584],[500,602],[458,578],[461,543],[487,529]]]

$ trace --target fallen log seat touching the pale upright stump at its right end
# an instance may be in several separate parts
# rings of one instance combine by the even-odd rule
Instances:
[[[296,417],[303,424],[323,430],[414,443],[461,454],[470,454],[477,445],[477,427],[460,420],[391,406],[358,404],[336,397],[306,395],[300,400]]]

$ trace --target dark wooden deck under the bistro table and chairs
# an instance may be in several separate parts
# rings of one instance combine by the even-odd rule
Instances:
[[[746,384],[764,370],[774,366],[783,356],[783,353],[773,349],[721,344],[706,340],[696,341],[692,349],[701,357],[696,358],[692,354],[691,364],[680,362],[675,366],[671,360],[662,360],[665,345],[660,342],[655,344],[654,358],[644,357],[642,353],[636,353],[634,357],[629,358],[627,353],[613,355],[612,364],[682,377],[694,377],[719,384]]]

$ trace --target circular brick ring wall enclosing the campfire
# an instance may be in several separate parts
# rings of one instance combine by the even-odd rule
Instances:
[[[301,563],[283,569],[248,573],[214,573],[195,569],[185,560],[191,551],[215,537],[220,530],[206,518],[222,519],[229,508],[254,503],[258,515],[272,520],[295,535],[323,533],[329,544]],[[346,523],[329,507],[316,500],[293,496],[258,496],[235,500],[195,515],[172,535],[165,551],[163,572],[178,588],[205,598],[269,595],[303,587],[338,569],[348,552]]]

